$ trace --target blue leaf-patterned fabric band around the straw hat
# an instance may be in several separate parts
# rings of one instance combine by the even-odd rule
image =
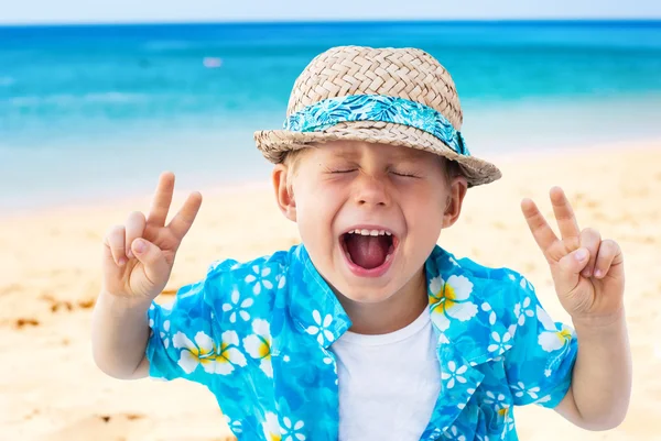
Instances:
[[[420,129],[443,141],[455,153],[470,156],[462,133],[435,109],[404,98],[350,95],[317,101],[291,114],[284,130],[323,132],[342,122],[380,121]]]

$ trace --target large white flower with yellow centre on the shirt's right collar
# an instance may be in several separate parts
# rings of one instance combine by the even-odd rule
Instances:
[[[451,320],[467,321],[477,313],[470,301],[473,283],[465,276],[449,276],[447,282],[434,277],[430,282],[432,319],[441,331],[449,328]]]

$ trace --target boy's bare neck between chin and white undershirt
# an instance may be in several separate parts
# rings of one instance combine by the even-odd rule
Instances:
[[[377,304],[357,302],[342,294],[337,294],[337,298],[351,319],[350,331],[359,334],[394,332],[411,324],[429,307],[424,271],[398,293]]]

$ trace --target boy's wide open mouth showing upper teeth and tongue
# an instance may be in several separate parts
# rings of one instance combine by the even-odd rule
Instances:
[[[350,264],[372,272],[390,263],[399,241],[388,230],[356,229],[344,233],[339,242]]]

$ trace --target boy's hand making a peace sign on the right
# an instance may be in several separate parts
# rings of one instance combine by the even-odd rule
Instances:
[[[563,308],[573,319],[619,312],[625,293],[624,256],[619,245],[603,241],[594,229],[579,230],[574,210],[561,188],[551,189],[551,203],[561,239],[532,200],[523,199],[521,210],[551,266],[555,293]]]

